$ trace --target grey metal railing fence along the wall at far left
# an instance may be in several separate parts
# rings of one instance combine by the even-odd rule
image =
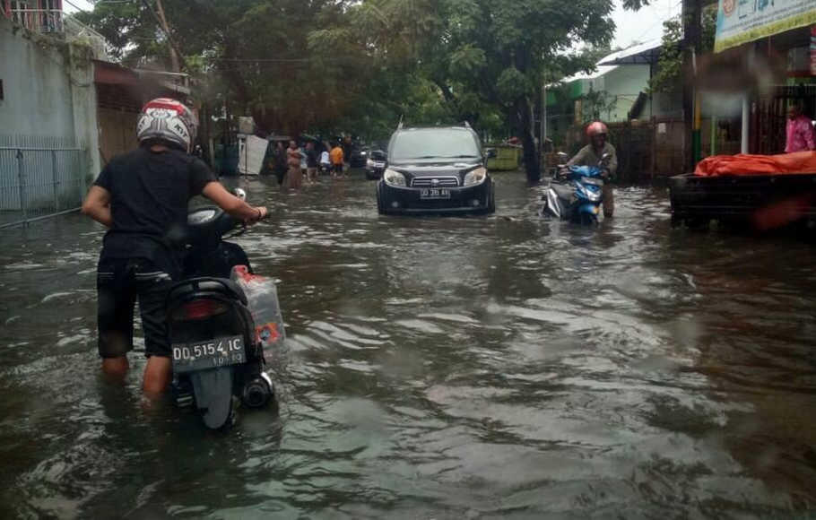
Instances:
[[[87,159],[71,139],[0,135],[0,228],[77,210]]]

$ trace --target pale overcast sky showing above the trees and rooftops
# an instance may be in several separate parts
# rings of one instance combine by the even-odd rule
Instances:
[[[681,1],[652,0],[652,5],[637,13],[623,11],[621,0],[615,0],[615,5],[612,19],[618,26],[618,31],[612,47],[628,47],[634,40],[643,42],[660,39],[663,35],[664,20],[680,13]],[[65,11],[73,12],[76,8],[91,10],[93,5],[87,0],[65,0]]]

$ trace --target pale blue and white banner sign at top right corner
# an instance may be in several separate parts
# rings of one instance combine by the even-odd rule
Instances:
[[[719,0],[715,52],[816,23],[813,0]]]

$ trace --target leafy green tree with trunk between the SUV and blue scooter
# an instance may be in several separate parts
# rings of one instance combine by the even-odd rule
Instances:
[[[578,41],[607,47],[614,24],[610,0],[369,0],[378,13],[411,4],[420,18],[389,20],[408,39],[409,56],[422,75],[462,118],[508,114],[524,145],[530,181],[540,178],[532,133],[533,100],[545,78],[588,68],[585,54],[570,54]]]

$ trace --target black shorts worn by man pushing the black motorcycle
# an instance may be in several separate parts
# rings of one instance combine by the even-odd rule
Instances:
[[[97,268],[99,295],[99,350],[102,358],[119,358],[133,349],[136,299],[142,314],[144,354],[169,357],[165,298],[173,285],[168,273],[142,258],[100,260]]]

